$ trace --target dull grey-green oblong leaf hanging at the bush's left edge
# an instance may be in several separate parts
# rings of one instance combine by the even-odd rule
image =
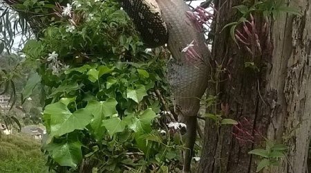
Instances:
[[[31,72],[28,75],[28,79],[26,82],[26,86],[23,88],[23,99],[22,99],[22,103],[25,102],[26,98],[29,98],[30,95],[32,94],[33,89],[35,89],[35,87],[37,86],[37,84],[39,84],[39,82],[41,81],[40,76],[38,75],[38,73],[35,72]]]

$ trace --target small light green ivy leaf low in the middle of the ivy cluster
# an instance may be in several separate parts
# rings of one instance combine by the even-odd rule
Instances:
[[[125,123],[119,117],[102,120],[102,126],[107,129],[111,137],[118,132],[124,131],[125,129]]]

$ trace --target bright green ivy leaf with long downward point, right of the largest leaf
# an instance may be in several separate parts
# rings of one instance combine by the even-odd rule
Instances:
[[[101,140],[104,135],[104,127],[102,127],[102,120],[106,117],[112,117],[117,114],[117,101],[114,98],[109,98],[106,101],[91,101],[88,102],[86,106],[86,111],[93,114],[94,118],[92,119],[91,131],[95,135],[97,140]]]

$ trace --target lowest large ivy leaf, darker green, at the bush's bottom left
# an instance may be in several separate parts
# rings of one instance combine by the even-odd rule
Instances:
[[[61,166],[77,167],[82,161],[82,143],[79,140],[67,140],[64,143],[53,143],[46,147],[54,161]]]

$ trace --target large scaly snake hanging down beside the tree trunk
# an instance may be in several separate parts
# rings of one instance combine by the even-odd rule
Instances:
[[[196,29],[196,19],[183,0],[119,0],[124,11],[133,19],[142,41],[152,47],[167,44],[172,58],[167,63],[167,80],[178,121],[185,122],[183,172],[190,172],[196,140],[196,116],[200,98],[208,83],[211,54],[205,35]]]

